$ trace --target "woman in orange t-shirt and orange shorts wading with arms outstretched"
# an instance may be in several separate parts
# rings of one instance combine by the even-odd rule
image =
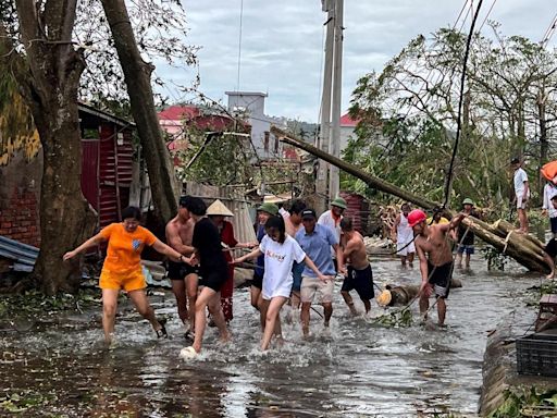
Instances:
[[[151,323],[157,336],[166,337],[164,324],[154,317],[154,310],[145,293],[147,283],[141,271],[141,251],[148,245],[175,262],[184,261],[185,257],[159,241],[148,229],[140,226],[140,209],[129,206],[122,211],[122,222],[103,228],[97,235],[63,256],[66,261],[108,242],[107,258],[99,280],[102,290],[102,329],[107,344],[112,342],[114,334],[117,294],[122,288],[127,292],[137,311]]]

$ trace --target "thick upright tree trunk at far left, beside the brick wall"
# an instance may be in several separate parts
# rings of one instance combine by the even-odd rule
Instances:
[[[84,61],[71,42],[76,0],[50,0],[44,9],[34,0],[17,0],[16,7],[25,51],[0,53],[0,62],[13,72],[42,145],[41,241],[34,278],[49,295],[74,292],[81,272],[75,263],[62,262],[62,255],[92,232],[96,219],[81,187],[77,89]],[[0,22],[0,50],[13,48],[5,34]]]

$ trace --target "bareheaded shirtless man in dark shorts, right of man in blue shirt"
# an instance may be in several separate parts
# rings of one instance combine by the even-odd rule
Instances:
[[[371,266],[368,261],[368,254],[366,253],[366,245],[363,244],[363,237],[358,231],[354,230],[352,220],[350,218],[343,218],[341,221],[341,230],[343,235],[341,237],[341,247],[343,248],[343,261],[339,266],[347,266],[343,287],[341,294],[344,297],[344,302],[348,305],[350,314],[356,316],[358,311],[354,307],[354,300],[350,296],[350,291],[356,290],[358,296],[360,296],[363,306],[366,307],[366,314],[371,309],[370,300],[374,296],[373,292],[373,274],[371,272]]]

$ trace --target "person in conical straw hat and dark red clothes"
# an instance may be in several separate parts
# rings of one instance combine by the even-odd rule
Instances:
[[[224,204],[216,199],[207,208],[207,216],[214,223],[221,234],[221,243],[224,249],[224,257],[228,262],[228,275],[226,282],[221,287],[221,306],[224,314],[224,319],[227,323],[232,321],[234,315],[232,309],[232,296],[234,292],[234,266],[232,262],[231,251],[228,248],[252,248],[258,243],[238,243],[234,237],[234,228],[231,222],[225,221],[225,218],[234,217],[234,213]]]

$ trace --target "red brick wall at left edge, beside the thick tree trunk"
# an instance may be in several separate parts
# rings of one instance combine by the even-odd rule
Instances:
[[[24,244],[40,244],[42,150],[29,162],[22,151],[0,167],[0,235]]]

